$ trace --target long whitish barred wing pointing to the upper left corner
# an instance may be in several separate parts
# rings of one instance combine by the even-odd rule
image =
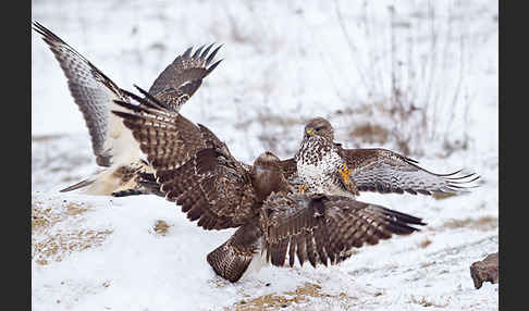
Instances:
[[[38,22],[33,22],[33,29],[42,36],[42,40],[53,52],[67,78],[70,92],[88,127],[97,164],[110,166],[113,161],[112,157],[118,152],[131,153],[131,150],[119,150],[118,147],[132,147],[135,145],[134,139],[127,135],[127,130],[123,130],[121,122],[112,122],[110,115],[112,100],[126,100],[120,88],[51,30]],[[115,107],[115,109],[119,108]],[[120,139],[128,141],[115,146]],[[128,142],[133,142],[133,145]],[[139,156],[139,150],[136,154]]]

